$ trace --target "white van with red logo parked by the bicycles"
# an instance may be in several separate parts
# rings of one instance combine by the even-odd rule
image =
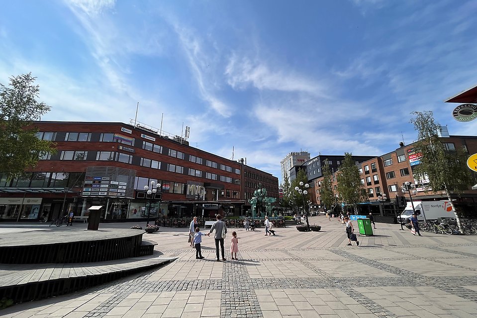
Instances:
[[[450,201],[414,201],[414,209],[421,212],[417,215],[418,220],[426,219],[435,220],[439,217],[456,217],[454,210],[452,209]],[[407,203],[406,209],[401,213],[402,223],[409,222],[409,218],[412,215],[412,205]],[[399,221],[399,219],[398,219]]]

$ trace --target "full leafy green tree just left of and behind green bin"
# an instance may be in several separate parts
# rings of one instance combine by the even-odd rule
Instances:
[[[353,213],[358,204],[368,200],[368,192],[361,184],[360,171],[351,153],[345,152],[345,159],[337,173],[337,181],[338,192],[343,202],[352,207]]]

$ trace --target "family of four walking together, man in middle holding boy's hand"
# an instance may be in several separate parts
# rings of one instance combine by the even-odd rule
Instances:
[[[220,251],[222,254],[222,261],[226,261],[227,259],[225,258],[225,249],[224,249],[224,240],[226,238],[227,234],[227,226],[225,225],[225,222],[222,221],[222,215],[217,214],[216,216],[217,220],[212,224],[210,227],[210,231],[208,233],[203,233],[200,231],[200,228],[197,226],[197,217],[194,216],[194,218],[191,221],[191,225],[189,227],[189,239],[191,241],[191,246],[195,247],[195,258],[196,259],[202,259],[204,258],[202,256],[202,251],[200,248],[200,243],[202,243],[202,236],[210,236],[210,234],[215,231],[214,234],[214,239],[215,239],[215,252],[217,256],[217,262],[220,262],[220,254],[219,254],[219,245],[220,245]],[[237,253],[238,253],[238,238],[237,238],[237,232],[233,231],[232,232],[232,239],[230,240],[230,253],[232,254],[232,259],[238,259],[237,258]],[[235,254],[235,257],[234,257]]]

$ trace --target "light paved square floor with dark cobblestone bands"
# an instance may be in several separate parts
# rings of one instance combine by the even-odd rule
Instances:
[[[226,253],[225,262],[215,261],[213,238],[203,238],[206,258],[196,260],[184,230],[145,234],[178,260],[95,289],[18,304],[0,317],[477,316],[477,236],[416,237],[378,224],[375,236],[346,246],[337,221],[311,221],[322,231],[276,228],[276,236],[264,237],[260,229],[237,230],[239,260]]]

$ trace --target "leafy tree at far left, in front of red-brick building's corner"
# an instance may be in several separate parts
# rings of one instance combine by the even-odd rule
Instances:
[[[31,73],[10,78],[10,85],[0,83],[0,172],[7,179],[20,176],[34,167],[40,156],[54,152],[50,141],[36,137],[33,121],[50,110],[37,101],[38,85]]]

